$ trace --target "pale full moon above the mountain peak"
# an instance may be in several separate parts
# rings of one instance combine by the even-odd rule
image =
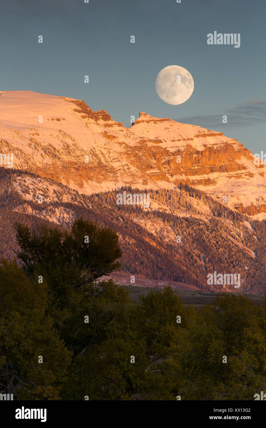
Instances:
[[[182,104],[192,95],[194,80],[185,68],[168,65],[156,77],[155,88],[159,97],[167,104]]]

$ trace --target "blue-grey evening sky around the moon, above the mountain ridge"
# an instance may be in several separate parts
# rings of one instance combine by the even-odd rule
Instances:
[[[0,90],[82,99],[127,127],[140,111],[169,117],[266,152],[265,16],[265,0],[0,0]],[[208,45],[214,31],[240,47]],[[183,104],[156,93],[168,65],[193,77]]]

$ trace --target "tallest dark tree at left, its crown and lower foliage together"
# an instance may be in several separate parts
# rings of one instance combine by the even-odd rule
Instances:
[[[70,233],[58,227],[15,228],[23,270],[32,281],[41,275],[47,282],[54,325],[73,357],[84,354],[105,339],[106,325],[123,313],[129,300],[112,280],[96,283],[120,268],[117,234],[82,218],[73,222]]]

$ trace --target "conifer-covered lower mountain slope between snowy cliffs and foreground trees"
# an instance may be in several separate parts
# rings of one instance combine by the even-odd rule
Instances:
[[[25,203],[23,196],[31,192],[36,196],[38,188],[32,190],[25,184],[24,195],[18,193],[13,187],[18,176],[35,178],[34,174],[23,175],[21,171],[0,170],[0,254],[8,259],[13,258],[16,248],[15,222],[35,227],[52,225],[51,219],[61,210],[116,231],[123,269],[132,274],[213,289],[207,284],[208,273],[239,273],[241,292],[265,293],[266,221],[251,220],[187,185],[174,190],[145,190],[167,209],[144,210],[140,205],[117,205],[118,190],[91,196],[73,190],[71,202],[63,202],[69,188],[56,183],[61,189],[55,193],[56,200],[47,203],[45,194],[42,204],[27,200],[33,214],[25,214],[15,210]],[[119,192],[123,190],[140,193],[131,187]],[[251,227],[245,226],[245,220]],[[69,230],[71,221],[58,218],[63,229]],[[176,243],[176,236],[181,237],[180,244]],[[216,288],[222,291],[221,286]]]

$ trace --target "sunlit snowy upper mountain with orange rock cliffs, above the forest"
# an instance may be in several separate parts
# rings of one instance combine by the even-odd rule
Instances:
[[[222,132],[142,112],[126,128],[84,101],[2,91],[0,137],[0,152],[13,153],[15,168],[80,193],[182,183],[254,219],[266,218],[265,164],[257,165],[243,144]]]

